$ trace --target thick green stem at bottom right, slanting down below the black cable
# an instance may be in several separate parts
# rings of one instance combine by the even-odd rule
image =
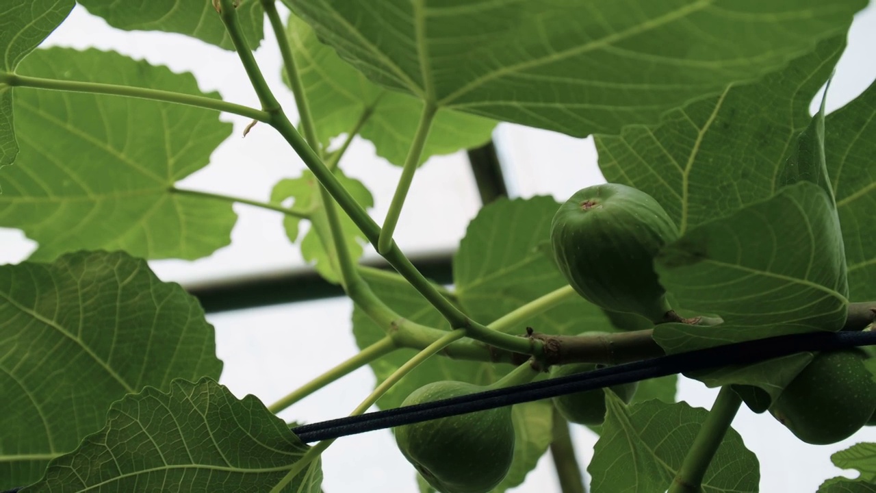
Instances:
[[[715,404],[712,404],[709,416],[703,421],[693,445],[684,457],[682,468],[678,470],[678,475],[675,476],[668,493],[702,493],[706,470],[724,440],[724,435],[730,429],[741,404],[742,398],[729,385],[721,388]]]

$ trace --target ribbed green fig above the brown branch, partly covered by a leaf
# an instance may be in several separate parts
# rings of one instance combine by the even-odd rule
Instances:
[[[578,190],[551,224],[557,264],[578,294],[654,323],[671,307],[653,257],[677,238],[675,223],[652,196],[618,183]]]

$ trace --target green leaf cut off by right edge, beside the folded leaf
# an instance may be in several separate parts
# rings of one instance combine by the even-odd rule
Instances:
[[[837,194],[851,301],[876,299],[876,83],[825,123],[827,165]]]

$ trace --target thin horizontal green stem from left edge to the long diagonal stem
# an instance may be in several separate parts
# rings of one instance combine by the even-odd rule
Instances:
[[[160,89],[146,89],[117,84],[102,84],[99,82],[58,81],[41,77],[28,77],[25,75],[0,72],[0,85],[6,84],[11,87],[26,87],[34,89],[64,90],[69,92],[86,92],[89,94],[104,94],[109,96],[127,96],[166,103],[186,104],[208,110],[224,111],[252,118],[260,122],[268,122],[271,119],[265,111],[259,111],[242,104],[229,103],[222,99],[207,96],[194,96]]]

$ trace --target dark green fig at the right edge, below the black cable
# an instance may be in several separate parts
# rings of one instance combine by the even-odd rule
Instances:
[[[806,443],[849,438],[876,411],[876,382],[864,359],[857,349],[816,354],[769,411]]]

